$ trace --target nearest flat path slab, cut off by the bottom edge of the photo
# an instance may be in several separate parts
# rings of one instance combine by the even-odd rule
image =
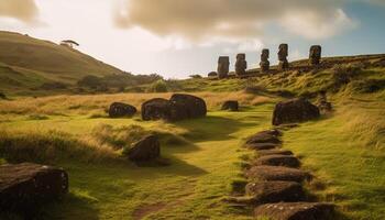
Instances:
[[[266,204],[254,209],[254,216],[272,220],[332,220],[334,206],[323,202]]]

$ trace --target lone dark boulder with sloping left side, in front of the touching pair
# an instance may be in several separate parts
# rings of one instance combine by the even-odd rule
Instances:
[[[133,162],[153,161],[161,156],[161,143],[157,136],[148,135],[134,143],[127,154]]]

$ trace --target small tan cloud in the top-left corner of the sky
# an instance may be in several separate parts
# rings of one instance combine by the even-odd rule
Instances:
[[[38,10],[34,0],[0,0],[0,16],[34,23],[37,21],[37,15]]]

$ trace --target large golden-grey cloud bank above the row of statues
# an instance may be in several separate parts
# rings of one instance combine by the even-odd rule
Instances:
[[[114,22],[193,41],[260,38],[272,23],[306,38],[324,38],[352,26],[342,4],[343,0],[120,0]]]

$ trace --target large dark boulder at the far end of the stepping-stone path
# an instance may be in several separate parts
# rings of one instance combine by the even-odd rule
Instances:
[[[273,113],[273,124],[302,122],[320,117],[318,107],[308,100],[299,98],[282,101],[275,106]]]

